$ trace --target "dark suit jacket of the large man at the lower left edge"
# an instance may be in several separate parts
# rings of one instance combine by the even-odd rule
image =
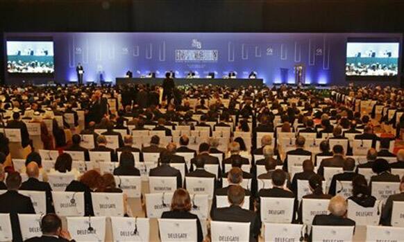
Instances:
[[[0,204],[0,213],[10,214],[12,241],[22,241],[17,214],[35,214],[31,198],[19,194],[17,191],[6,191],[0,195]]]

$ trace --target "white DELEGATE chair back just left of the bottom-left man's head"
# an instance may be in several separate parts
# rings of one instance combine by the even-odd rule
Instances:
[[[41,218],[41,214],[18,214],[19,229],[24,241],[35,236],[42,236]]]

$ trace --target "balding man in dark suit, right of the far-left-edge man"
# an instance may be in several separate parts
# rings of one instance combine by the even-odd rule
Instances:
[[[52,189],[48,182],[41,182],[39,180],[40,168],[36,162],[28,163],[26,166],[26,175],[28,175],[28,180],[22,182],[19,189],[28,191],[45,191],[47,196],[47,213],[53,213]]]

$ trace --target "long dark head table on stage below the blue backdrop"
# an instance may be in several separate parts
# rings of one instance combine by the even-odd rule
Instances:
[[[123,84],[149,84],[158,85],[162,84],[164,78],[116,78],[117,85]],[[174,78],[176,85],[219,85],[228,87],[248,87],[248,86],[261,86],[264,84],[263,79],[224,79],[224,78]]]

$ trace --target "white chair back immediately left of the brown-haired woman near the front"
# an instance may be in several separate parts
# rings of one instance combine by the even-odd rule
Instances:
[[[174,192],[144,194],[147,218],[161,218],[163,211],[169,211],[173,194]]]

